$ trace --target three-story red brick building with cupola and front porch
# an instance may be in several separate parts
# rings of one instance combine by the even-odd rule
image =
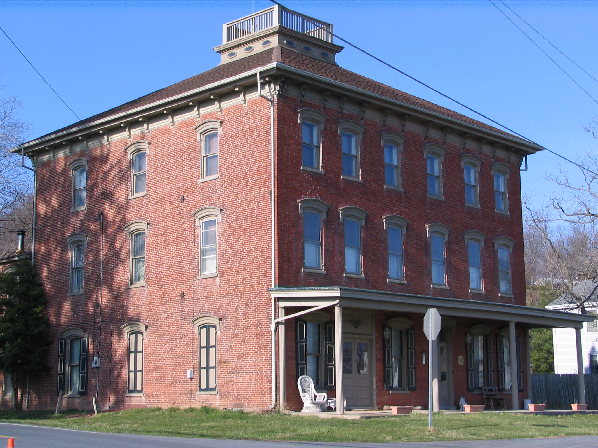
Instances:
[[[14,149],[56,341],[32,407],[298,410],[300,375],[427,406],[428,308],[435,407],[529,397],[527,330],[585,320],[525,306],[542,148],[344,70],[331,29],[278,6],[225,24],[217,67]]]

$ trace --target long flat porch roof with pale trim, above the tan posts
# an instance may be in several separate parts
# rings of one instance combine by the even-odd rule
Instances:
[[[437,308],[441,315],[480,318],[484,320],[515,321],[530,328],[569,327],[581,328],[584,322],[594,316],[551,311],[544,308],[510,305],[508,303],[482,302],[481,300],[447,299],[444,297],[420,296],[387,291],[376,291],[343,286],[322,287],[276,287],[270,289],[279,306],[322,306],[338,303],[350,308],[380,309],[425,313],[428,308]]]

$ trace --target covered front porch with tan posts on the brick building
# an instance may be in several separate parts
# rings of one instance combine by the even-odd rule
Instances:
[[[509,409],[521,409],[525,398],[534,402],[529,329],[575,328],[579,350],[579,329],[589,320],[504,303],[345,287],[277,288],[271,294],[279,308],[280,409],[301,409],[296,380],[309,375],[318,391],[337,403],[347,400],[346,412],[335,411],[339,415],[380,412],[388,405],[427,409],[430,356],[437,361],[434,411],[459,409],[461,396],[468,404],[484,404],[484,387],[495,388]],[[443,318],[432,354],[423,335],[429,308]],[[584,403],[582,375],[578,391]]]

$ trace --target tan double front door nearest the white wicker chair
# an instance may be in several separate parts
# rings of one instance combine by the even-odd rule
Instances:
[[[343,338],[343,394],[347,409],[371,409],[372,370],[371,341]]]

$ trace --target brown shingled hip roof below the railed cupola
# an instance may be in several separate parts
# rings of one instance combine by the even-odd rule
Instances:
[[[459,121],[471,124],[489,131],[493,131],[505,136],[514,137],[520,139],[520,137],[513,136],[505,131],[487,125],[483,122],[477,121],[468,116],[462,115],[461,113],[451,111],[450,109],[443,108],[429,101],[423,100],[419,97],[405,93],[404,91],[390,87],[389,85],[382,84],[382,82],[374,81],[373,79],[366,78],[365,76],[358,75],[358,73],[350,72],[349,70],[343,69],[337,65],[333,65],[327,62],[322,62],[317,59],[313,59],[309,56],[297,53],[287,48],[274,47],[270,50],[263,51],[261,53],[254,54],[253,56],[245,57],[235,62],[229,62],[226,64],[219,65],[207,72],[200,73],[199,75],[187,78],[184,81],[177,82],[176,84],[169,85],[163,89],[157,90],[148,95],[142,96],[138,99],[124,103],[116,108],[109,109],[108,111],[98,113],[97,115],[86,118],[80,122],[71,124],[62,129],[54,131],[53,133],[46,134],[50,136],[56,132],[68,131],[69,128],[80,127],[81,125],[88,124],[98,119],[108,118],[111,115],[117,113],[131,111],[144,105],[166,100],[170,97],[183,94],[185,92],[195,90],[213,82],[217,82],[221,79],[230,78],[231,76],[239,75],[240,73],[247,72],[257,67],[266,66],[272,62],[280,62],[285,65],[295,67],[306,72],[315,73],[316,75],[324,76],[325,78],[332,79],[333,81],[342,82],[344,84],[351,85],[353,87],[361,88],[363,90],[370,91],[372,93],[388,97],[393,100],[406,103],[411,106],[426,109],[431,112],[440,113],[450,118],[457,119]],[[45,136],[39,137],[43,138]]]

